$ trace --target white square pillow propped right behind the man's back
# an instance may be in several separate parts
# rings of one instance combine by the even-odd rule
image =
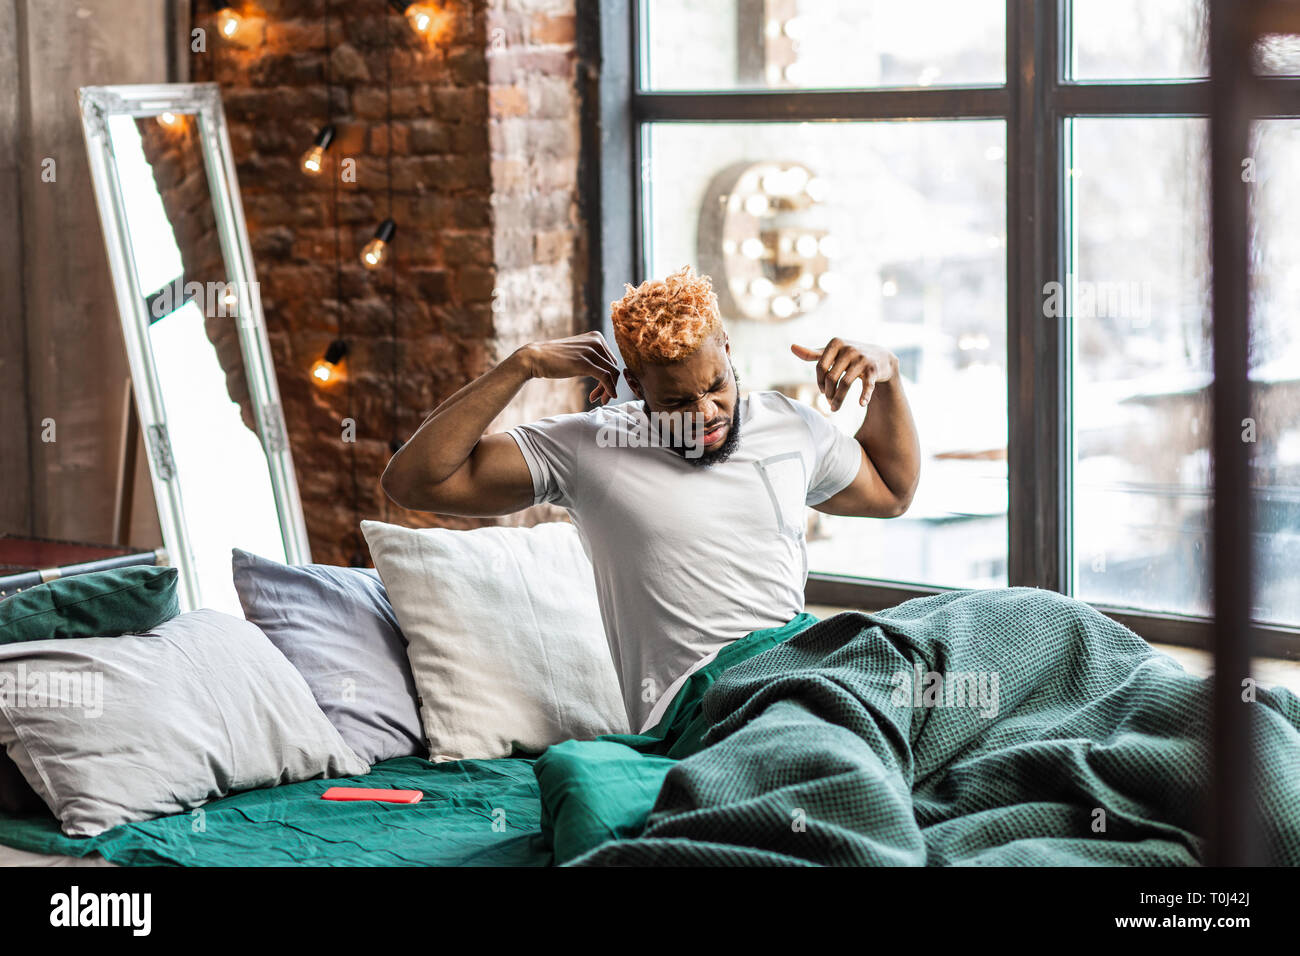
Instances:
[[[627,732],[592,562],[572,524],[361,531],[408,643],[429,760]]]

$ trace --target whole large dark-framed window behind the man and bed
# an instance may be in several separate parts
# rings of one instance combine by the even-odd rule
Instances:
[[[606,65],[611,43],[615,64],[625,51],[630,122],[604,155],[632,189],[624,200],[604,186],[606,247],[628,237],[637,278],[688,263],[714,277],[744,389],[829,415],[790,342],[842,336],[900,356],[920,490],[888,522],[810,512],[810,596],[1046,587],[1160,639],[1204,643],[1204,1],[614,8],[627,23],[602,26]],[[1300,44],[1265,38],[1256,69],[1277,111],[1243,157],[1254,209],[1243,441],[1254,442],[1254,617],[1286,649],[1300,646],[1300,225],[1288,215],[1300,208],[1300,120],[1288,118],[1300,117]],[[621,282],[619,265],[604,263],[607,282]],[[831,418],[853,432],[859,411]]]

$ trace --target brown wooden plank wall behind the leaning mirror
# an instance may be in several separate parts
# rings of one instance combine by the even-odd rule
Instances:
[[[113,540],[127,365],[77,88],[166,82],[182,8],[0,0],[0,532]],[[130,544],[156,546],[139,460]]]

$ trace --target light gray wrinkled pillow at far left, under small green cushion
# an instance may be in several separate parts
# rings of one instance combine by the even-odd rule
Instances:
[[[0,646],[0,745],[69,836],[369,771],[265,635],[209,609]]]

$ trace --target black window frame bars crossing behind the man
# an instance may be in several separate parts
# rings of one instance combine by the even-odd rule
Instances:
[[[647,124],[945,118],[1005,122],[1011,436],[1008,584],[1063,594],[1072,591],[1071,339],[1067,319],[1044,321],[1041,290],[1048,282],[1063,282],[1067,271],[1067,122],[1079,117],[1209,118],[1212,103],[1208,78],[1069,79],[1070,1],[1008,0],[1002,86],[706,92],[642,90],[644,3],[601,0],[580,5],[580,56],[595,64],[593,74],[598,77],[586,88],[582,108],[581,181],[590,230],[588,289],[598,290],[586,297],[588,323],[607,336],[611,330],[606,303],[621,297],[624,282],[640,282],[646,276],[642,177]],[[1270,5],[1268,0],[1252,1],[1264,8]],[[1300,78],[1251,79],[1249,86],[1256,116],[1300,118]],[[1245,385],[1243,389],[1248,392]],[[1217,499],[1216,524],[1227,514],[1222,505]],[[1248,503],[1239,507],[1247,520]],[[810,604],[874,610],[944,591],[812,572],[806,596]],[[1152,643],[1214,648],[1213,618],[1093,606]],[[1300,659],[1300,627],[1252,622],[1249,632],[1256,656]]]

